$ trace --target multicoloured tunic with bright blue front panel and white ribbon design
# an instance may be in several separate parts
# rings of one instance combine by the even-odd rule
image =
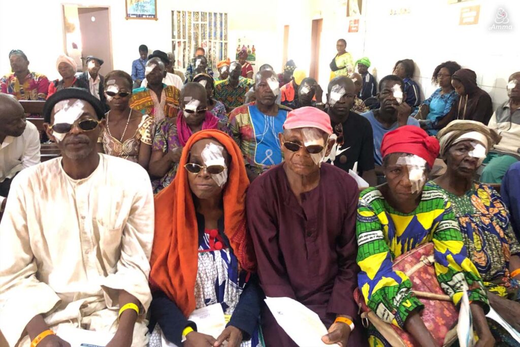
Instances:
[[[245,165],[257,175],[282,162],[278,134],[290,108],[278,105],[276,116],[265,115],[255,102],[236,108],[229,114],[233,139],[242,150]]]

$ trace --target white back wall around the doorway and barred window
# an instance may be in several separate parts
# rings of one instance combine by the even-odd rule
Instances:
[[[204,10],[228,13],[228,50],[235,57],[238,37],[248,35],[255,42],[257,67],[281,61],[281,43],[276,33],[276,0],[263,0],[254,9],[241,1],[190,0],[177,2],[158,0],[158,20],[125,19],[124,0],[17,0],[0,1],[0,74],[10,72],[8,54],[22,49],[30,69],[44,73],[49,79],[59,78],[56,59],[64,51],[62,4],[109,7],[114,69],[131,72],[132,61],[139,57],[138,47],[150,50],[172,50],[172,10]],[[250,18],[244,18],[244,13]],[[20,19],[23,16],[23,19]],[[28,25],[29,23],[29,25]],[[33,25],[34,24],[34,25]],[[16,31],[16,32],[14,32]],[[11,33],[11,34],[10,34]]]

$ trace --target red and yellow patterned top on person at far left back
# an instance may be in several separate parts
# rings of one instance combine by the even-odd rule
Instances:
[[[37,72],[29,72],[22,84],[14,73],[0,80],[0,93],[14,95],[18,100],[45,100],[48,91],[49,80]]]

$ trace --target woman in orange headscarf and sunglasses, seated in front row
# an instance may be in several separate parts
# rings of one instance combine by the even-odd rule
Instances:
[[[150,346],[256,346],[261,291],[246,232],[242,153],[225,133],[193,134],[173,184],[155,197]],[[229,319],[219,336],[196,331],[196,309],[217,304]],[[212,307],[212,309],[214,309]],[[215,334],[216,335],[216,334]],[[250,340],[251,341],[248,341]]]

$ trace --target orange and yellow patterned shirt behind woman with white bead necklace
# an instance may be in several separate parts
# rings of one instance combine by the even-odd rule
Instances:
[[[162,118],[175,118],[179,111],[180,91],[173,85],[163,83],[163,95],[161,100],[157,100],[155,93],[152,95],[150,89],[146,87],[134,89],[132,98],[130,99],[130,107],[142,114],[149,114],[155,122],[159,122]],[[160,105],[163,112],[158,112],[155,106]],[[161,117],[164,114],[164,117]]]

